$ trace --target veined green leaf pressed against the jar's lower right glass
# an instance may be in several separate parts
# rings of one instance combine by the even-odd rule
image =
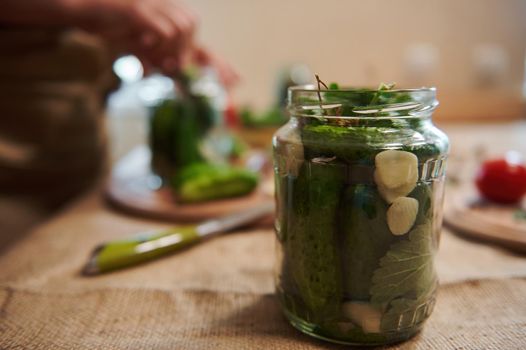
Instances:
[[[407,235],[408,239],[394,243],[380,259],[370,290],[375,305],[385,307],[397,298],[418,300],[436,286],[431,220],[415,226]]]

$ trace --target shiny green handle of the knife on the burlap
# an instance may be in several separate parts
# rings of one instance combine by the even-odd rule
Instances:
[[[84,274],[117,270],[140,264],[194,244],[200,240],[195,226],[176,227],[167,231],[100,245],[84,268]]]

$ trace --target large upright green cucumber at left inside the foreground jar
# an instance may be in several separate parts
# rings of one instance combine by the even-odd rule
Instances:
[[[322,318],[336,313],[342,300],[336,240],[342,169],[340,164],[304,163],[289,192],[292,206],[285,245],[291,273],[305,305]]]

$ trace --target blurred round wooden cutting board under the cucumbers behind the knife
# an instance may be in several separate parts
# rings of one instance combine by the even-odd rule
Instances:
[[[176,222],[201,222],[232,214],[273,200],[263,182],[250,195],[197,204],[179,204],[160,179],[150,171],[150,151],[138,147],[114,166],[106,186],[106,198],[115,207],[130,214]],[[262,221],[269,225],[272,218]]]

